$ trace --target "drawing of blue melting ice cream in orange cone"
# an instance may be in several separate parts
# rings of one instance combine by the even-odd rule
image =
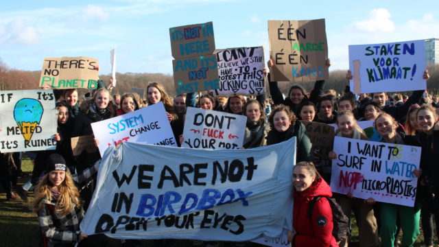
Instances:
[[[36,99],[20,99],[14,107],[14,119],[28,143],[43,116],[43,105]]]

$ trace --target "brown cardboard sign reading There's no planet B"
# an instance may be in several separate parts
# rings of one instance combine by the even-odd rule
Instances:
[[[45,58],[39,86],[53,89],[97,89],[99,72],[95,58]]]

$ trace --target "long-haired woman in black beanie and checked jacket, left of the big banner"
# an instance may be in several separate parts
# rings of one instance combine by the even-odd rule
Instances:
[[[38,213],[45,246],[74,246],[87,237],[80,232],[84,209],[75,183],[86,183],[97,172],[99,165],[100,161],[79,176],[71,176],[60,154],[49,156],[46,174],[37,185],[32,201],[32,208]]]

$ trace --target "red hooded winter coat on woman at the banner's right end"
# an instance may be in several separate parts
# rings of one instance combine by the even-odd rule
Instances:
[[[293,224],[296,235],[292,246],[338,246],[332,235],[332,209],[327,198],[322,197],[314,204],[309,219],[309,204],[316,196],[332,196],[331,187],[322,178],[305,191],[294,191]]]

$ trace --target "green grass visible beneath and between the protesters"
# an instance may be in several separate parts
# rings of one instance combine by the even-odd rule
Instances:
[[[23,185],[32,174],[32,162],[26,156],[22,163],[23,172],[29,174],[25,178],[19,179],[19,184]],[[29,193],[29,202],[32,200],[32,193]],[[0,187],[0,246],[2,247],[27,247],[38,246],[39,226],[36,213],[32,213],[29,202],[22,201],[6,201],[6,194]],[[359,246],[358,243],[358,228],[355,224],[355,217],[353,219],[353,231],[350,246]],[[435,239],[435,244],[438,244],[438,239]],[[143,243],[143,246],[151,246],[150,243]],[[422,246],[423,235],[419,235],[416,239],[415,246]],[[156,243],[157,244],[157,243]],[[112,246],[117,246],[112,244]],[[161,246],[161,244],[156,245]],[[187,241],[182,241],[174,246],[191,246]],[[223,246],[223,245],[221,245]]]

